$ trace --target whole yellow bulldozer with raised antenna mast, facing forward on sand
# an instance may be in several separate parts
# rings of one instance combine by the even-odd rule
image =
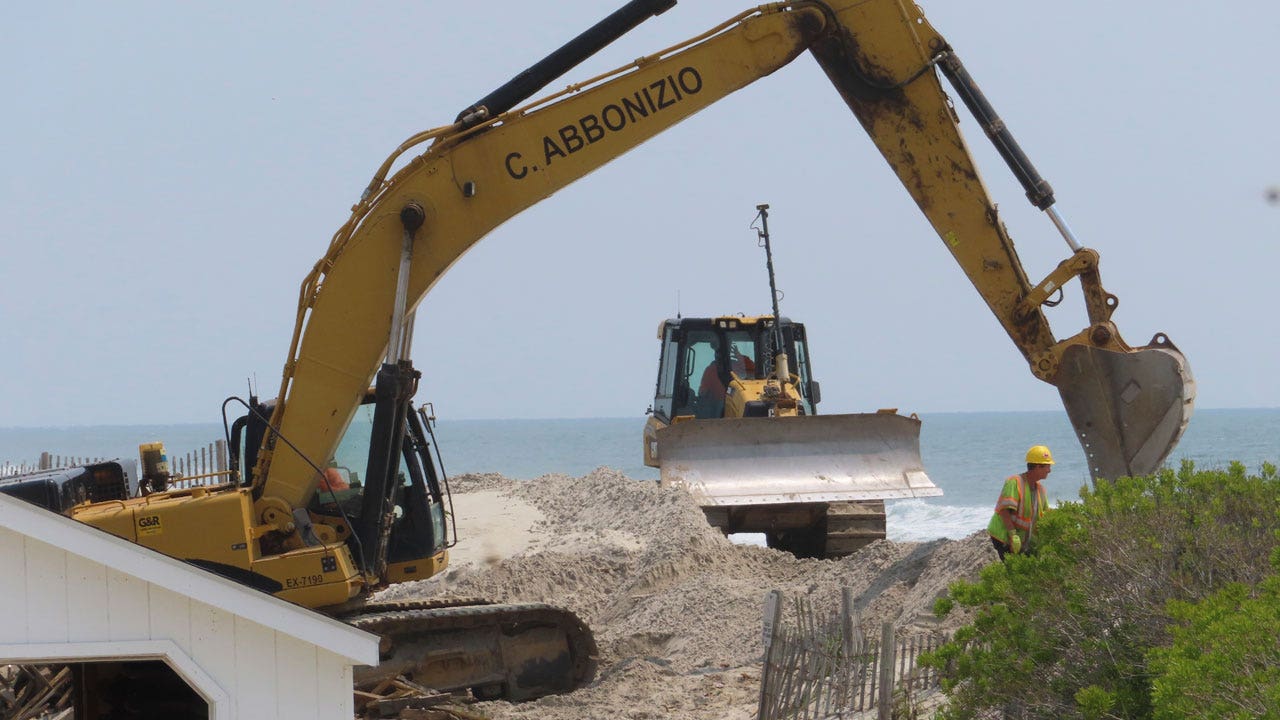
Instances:
[[[662,322],[644,461],[726,534],[844,557],[884,538],[886,500],[942,489],[924,471],[915,415],[818,414],[805,327],[778,309],[769,206],[756,210],[773,314]]]

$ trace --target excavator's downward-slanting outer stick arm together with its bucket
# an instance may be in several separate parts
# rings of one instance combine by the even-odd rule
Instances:
[[[1039,177],[946,40],[911,3],[846,3],[840,27],[813,55],[969,282],[1030,365],[1057,387],[1094,479],[1152,473],[1190,420],[1196,384],[1164,333],[1130,347],[1111,322],[1119,299],[1102,287],[1098,254],[1082,247]],[[1044,279],[1027,278],[983,187],[937,68],[973,113],[1027,197],[1062,233],[1071,255]],[[1042,307],[1078,278],[1088,325],[1057,340]]]

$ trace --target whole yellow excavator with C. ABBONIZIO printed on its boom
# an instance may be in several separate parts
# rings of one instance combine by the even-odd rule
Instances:
[[[1097,254],[1075,245],[1061,222],[1071,255],[1048,278],[1027,279],[936,70],[975,109],[1037,206],[1052,213],[1053,196],[913,3],[762,5],[529,100],[672,5],[626,4],[452,122],[413,135],[378,168],[302,282],[278,395],[246,402],[239,436],[228,430],[242,448],[232,482],[164,491],[156,483],[142,497],[79,505],[74,518],[381,633],[384,661],[367,673],[516,700],[589,682],[594,641],[563,609],[371,600],[388,584],[438,574],[448,559],[447,497],[411,404],[415,307],[508,218],[806,50],[1032,372],[1060,388],[1094,471],[1116,477],[1160,464],[1190,413],[1185,360],[1164,336],[1144,347],[1121,340]],[[1041,306],[1073,278],[1084,287],[1089,322],[1059,341]]]

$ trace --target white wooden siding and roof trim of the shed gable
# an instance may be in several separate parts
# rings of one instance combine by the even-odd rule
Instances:
[[[353,716],[352,666],[376,661],[372,635],[14,503],[0,496],[0,664],[163,657],[215,720]]]

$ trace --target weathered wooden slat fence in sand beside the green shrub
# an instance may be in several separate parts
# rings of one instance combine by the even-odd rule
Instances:
[[[767,610],[772,641],[760,676],[759,720],[852,719],[872,711],[888,719],[895,693],[911,703],[940,687],[937,671],[922,667],[919,657],[945,637],[897,638],[887,623],[878,638],[864,637],[847,592],[836,611],[815,611],[804,598],[791,609],[786,621],[776,612],[772,623]]]

